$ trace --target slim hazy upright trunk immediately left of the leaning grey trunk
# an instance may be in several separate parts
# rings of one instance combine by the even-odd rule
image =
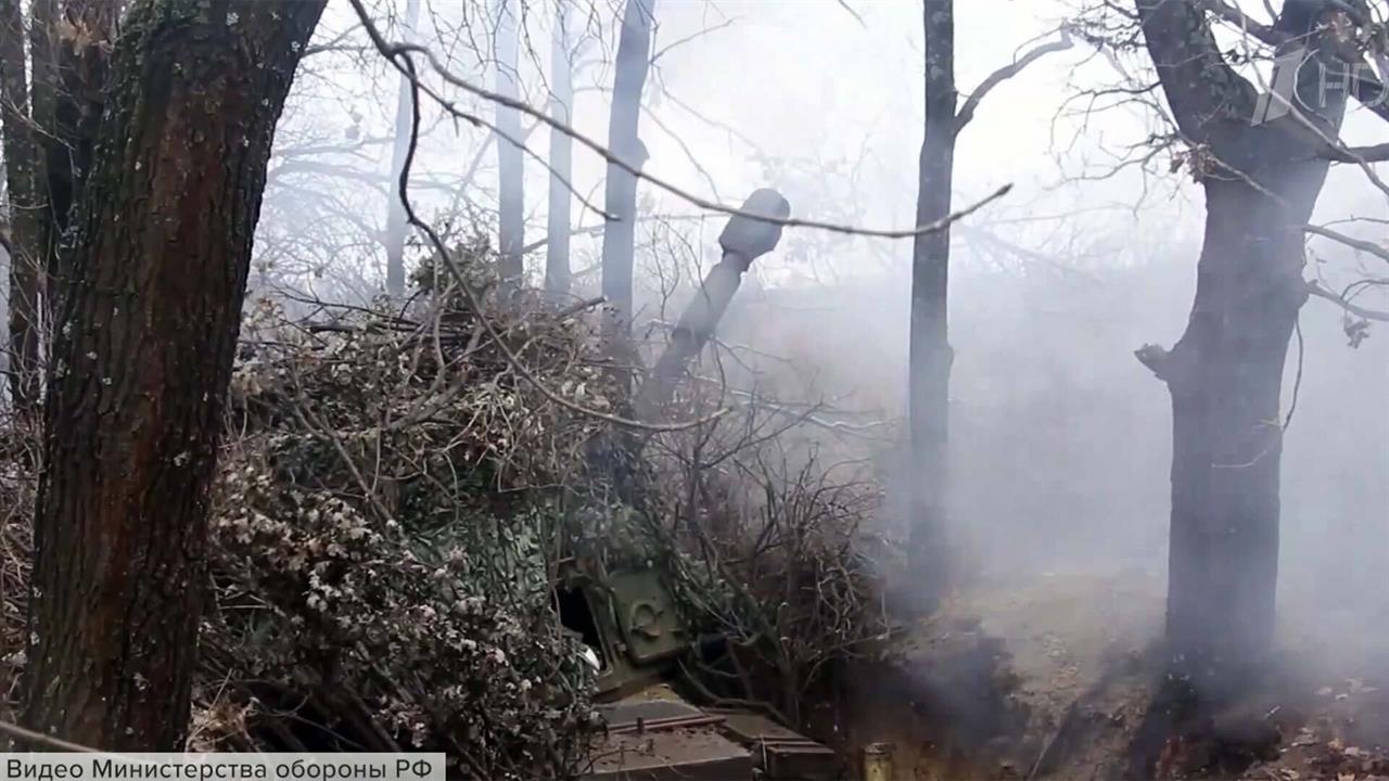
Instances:
[[[568,6],[560,3],[550,46],[550,115],[568,125],[574,115],[574,63],[569,56]],[[569,292],[569,211],[574,196],[574,139],[550,129],[550,208],[546,224],[544,292],[560,299]]]

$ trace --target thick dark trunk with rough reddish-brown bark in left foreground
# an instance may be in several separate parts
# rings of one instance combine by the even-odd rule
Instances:
[[[176,750],[275,122],[322,0],[142,0],[113,63],[46,406],[25,723]]]

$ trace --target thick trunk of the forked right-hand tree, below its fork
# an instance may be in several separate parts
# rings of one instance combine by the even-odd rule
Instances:
[[[1213,702],[1272,641],[1283,363],[1306,300],[1301,227],[1325,174],[1285,160],[1253,172],[1258,189],[1232,175],[1206,182],[1196,302],[1154,365],[1172,395],[1168,641]]]

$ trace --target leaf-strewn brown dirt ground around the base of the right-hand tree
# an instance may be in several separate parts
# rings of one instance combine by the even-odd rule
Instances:
[[[847,742],[892,743],[901,780],[1133,777],[1161,681],[1163,593],[1140,570],[979,584],[910,627],[889,666],[856,674]],[[1215,718],[1238,725],[1218,756],[1170,739],[1151,775],[1389,778],[1389,655],[1367,632],[1382,625],[1285,628],[1276,675]]]

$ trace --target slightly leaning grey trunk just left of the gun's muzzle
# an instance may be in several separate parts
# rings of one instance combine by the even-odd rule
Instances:
[[[628,0],[617,43],[608,149],[632,168],[646,163],[638,135],[642,89],[651,60],[656,0]],[[611,340],[625,343],[632,328],[632,260],[636,252],[636,176],[608,163],[603,208],[613,220],[603,227],[603,296],[611,307]]]

